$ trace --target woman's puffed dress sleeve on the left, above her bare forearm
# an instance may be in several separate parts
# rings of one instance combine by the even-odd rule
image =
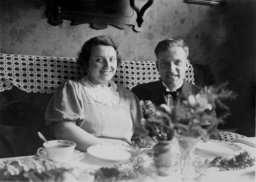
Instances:
[[[64,125],[75,124],[80,127],[83,124],[83,105],[73,81],[66,81],[54,94],[46,109],[45,121],[54,134]]]

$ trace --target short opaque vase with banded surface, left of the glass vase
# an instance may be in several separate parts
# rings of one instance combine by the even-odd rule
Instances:
[[[178,168],[177,153],[172,152],[175,142],[175,140],[159,141],[153,148],[154,162],[159,176],[169,176]]]

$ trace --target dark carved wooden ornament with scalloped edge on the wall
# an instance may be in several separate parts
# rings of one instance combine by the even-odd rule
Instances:
[[[72,25],[90,23],[96,29],[108,25],[124,29],[134,25],[141,32],[144,16],[154,0],[44,0],[47,4],[46,15],[52,25],[60,25],[63,20],[72,20]]]

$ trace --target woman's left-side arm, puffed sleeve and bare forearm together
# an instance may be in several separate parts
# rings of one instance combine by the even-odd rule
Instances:
[[[86,151],[94,144],[107,143],[80,128],[84,122],[83,102],[73,81],[63,84],[46,109],[46,125],[57,139],[76,142],[76,149]]]

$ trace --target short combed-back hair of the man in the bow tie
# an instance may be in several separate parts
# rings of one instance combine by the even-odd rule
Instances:
[[[161,51],[167,51],[168,49],[172,47],[182,47],[184,51],[186,52],[186,55],[188,57],[188,45],[182,40],[181,38],[170,38],[166,40],[162,40],[158,42],[155,49],[156,57],[159,52]]]

